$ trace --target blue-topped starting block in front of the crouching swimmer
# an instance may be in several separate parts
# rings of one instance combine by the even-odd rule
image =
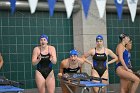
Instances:
[[[74,92],[69,86],[75,86],[77,88],[80,88],[80,93],[84,93],[84,90],[92,87],[99,87],[98,93],[101,93],[102,87],[107,86],[107,84],[102,83],[102,80],[107,79],[88,76],[87,73],[66,73],[62,76],[60,80],[66,85],[66,87],[71,93]],[[93,82],[92,80],[97,80],[99,82]]]

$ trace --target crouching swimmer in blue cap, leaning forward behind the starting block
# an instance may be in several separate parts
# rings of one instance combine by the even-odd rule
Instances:
[[[77,50],[75,49],[71,50],[70,57],[62,60],[60,64],[60,72],[58,73],[58,76],[62,77],[62,75],[65,75],[67,73],[77,73],[77,72],[81,73],[82,65],[85,61],[86,60],[83,60],[82,58],[78,57]],[[61,83],[61,88],[63,93],[71,93],[63,82],[60,83]],[[75,93],[76,91],[75,86],[69,86],[69,88]]]

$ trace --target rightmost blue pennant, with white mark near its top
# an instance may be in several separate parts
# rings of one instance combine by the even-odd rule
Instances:
[[[115,5],[116,5],[116,8],[117,8],[117,13],[118,13],[119,20],[121,20],[124,0],[114,0],[114,2],[115,2]]]

